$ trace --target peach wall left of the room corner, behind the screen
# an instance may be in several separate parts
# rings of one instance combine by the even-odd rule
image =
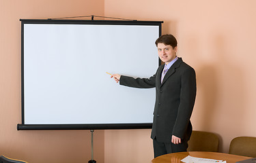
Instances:
[[[0,0],[0,155],[31,163],[88,162],[89,130],[17,131],[20,109],[20,18],[104,16],[104,0]],[[104,162],[104,130],[94,134],[94,158]]]

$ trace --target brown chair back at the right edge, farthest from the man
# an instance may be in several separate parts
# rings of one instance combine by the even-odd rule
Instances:
[[[256,137],[236,137],[229,146],[229,154],[256,158]]]

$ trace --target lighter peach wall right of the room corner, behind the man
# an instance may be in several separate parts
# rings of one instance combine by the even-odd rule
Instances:
[[[226,153],[234,137],[256,137],[255,0],[105,0],[104,5],[105,16],[163,20],[162,33],[177,37],[177,55],[197,72],[194,130],[218,134]],[[150,130],[105,131],[105,163],[149,162],[149,137]]]

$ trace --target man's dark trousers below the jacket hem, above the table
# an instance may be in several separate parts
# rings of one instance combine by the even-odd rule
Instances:
[[[186,151],[188,148],[188,141],[182,140],[181,144],[173,143],[161,143],[157,139],[153,139],[154,157],[158,157],[167,153],[175,153],[180,151]]]

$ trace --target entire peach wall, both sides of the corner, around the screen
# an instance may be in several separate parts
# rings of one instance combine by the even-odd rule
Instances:
[[[254,0],[0,0],[0,154],[33,163],[87,162],[87,130],[17,131],[20,118],[20,18],[91,14],[163,20],[178,56],[197,71],[195,130],[215,132],[220,151],[233,137],[256,137]],[[97,162],[150,162],[150,130],[96,130]]]

